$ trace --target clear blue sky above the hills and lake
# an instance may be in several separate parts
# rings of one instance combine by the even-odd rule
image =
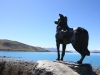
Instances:
[[[100,0],[0,0],[0,39],[56,47],[59,13],[67,16],[69,27],[88,30],[89,50],[100,49]]]

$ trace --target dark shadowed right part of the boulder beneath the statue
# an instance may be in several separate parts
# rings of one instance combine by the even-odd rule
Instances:
[[[66,61],[55,61],[55,62],[59,62],[59,63],[63,63],[67,66],[69,66],[71,69],[73,69],[74,71],[76,71],[79,74],[92,74],[92,66],[88,63],[85,64],[76,64],[76,62],[66,62]]]

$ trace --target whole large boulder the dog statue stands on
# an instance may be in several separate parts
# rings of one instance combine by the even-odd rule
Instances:
[[[90,64],[78,65],[65,61],[39,60],[32,69],[32,75],[97,75]]]

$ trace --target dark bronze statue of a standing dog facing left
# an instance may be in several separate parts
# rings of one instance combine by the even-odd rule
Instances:
[[[81,59],[77,63],[82,64],[85,56],[90,55],[88,50],[88,40],[89,35],[88,31],[84,28],[69,28],[67,25],[67,17],[59,14],[60,18],[57,21],[54,21],[57,24],[56,27],[56,45],[57,45],[57,60],[62,60],[65,55],[65,49],[67,44],[72,44],[73,48],[81,54]],[[62,55],[60,58],[59,47],[62,44]]]

